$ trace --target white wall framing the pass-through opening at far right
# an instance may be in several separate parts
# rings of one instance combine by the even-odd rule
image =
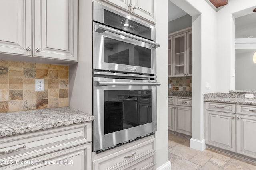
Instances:
[[[235,90],[234,16],[248,14],[255,7],[255,0],[230,0],[217,12],[217,92]]]

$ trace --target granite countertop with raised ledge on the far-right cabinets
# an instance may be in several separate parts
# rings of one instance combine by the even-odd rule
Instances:
[[[252,93],[254,97],[245,98],[245,93]],[[256,105],[256,92],[231,90],[229,93],[208,93],[204,94],[204,101]]]

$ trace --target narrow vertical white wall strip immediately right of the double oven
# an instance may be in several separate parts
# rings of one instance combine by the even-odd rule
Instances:
[[[168,0],[156,3],[157,132],[156,167],[168,162]]]

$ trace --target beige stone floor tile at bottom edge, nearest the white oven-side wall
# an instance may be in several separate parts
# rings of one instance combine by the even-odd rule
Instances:
[[[170,159],[172,164],[172,170],[199,170],[200,166],[194,164],[188,160],[180,158],[179,156],[174,156]]]

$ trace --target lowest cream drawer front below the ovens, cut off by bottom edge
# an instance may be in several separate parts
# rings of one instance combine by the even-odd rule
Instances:
[[[125,165],[121,165],[117,170],[151,170],[156,162],[156,153],[153,152],[142,158]]]

